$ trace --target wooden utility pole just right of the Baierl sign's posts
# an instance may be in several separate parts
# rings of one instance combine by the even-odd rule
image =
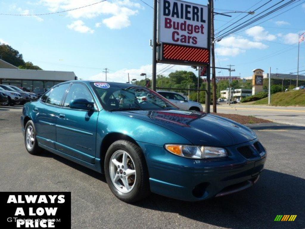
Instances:
[[[212,62],[212,84],[213,84],[213,112],[217,113],[216,108],[216,100],[217,100],[217,94],[216,94],[216,69],[215,69],[215,42],[214,42],[214,1],[211,0],[211,62]]]

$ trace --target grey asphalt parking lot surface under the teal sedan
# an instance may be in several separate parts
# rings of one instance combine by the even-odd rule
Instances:
[[[20,131],[22,107],[0,106],[0,191],[71,191],[72,228],[305,228],[305,127],[252,125],[267,149],[253,187],[203,202],[152,194],[126,204],[105,177],[55,154],[27,153]],[[277,215],[297,215],[274,222]]]

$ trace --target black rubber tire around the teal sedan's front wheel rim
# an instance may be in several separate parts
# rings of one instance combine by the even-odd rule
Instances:
[[[127,193],[118,190],[114,186],[109,171],[110,159],[112,155],[120,150],[126,151],[130,155],[136,171],[134,187],[130,192]],[[135,145],[134,143],[126,140],[118,140],[113,144],[111,144],[106,152],[104,168],[105,168],[105,176],[106,176],[107,184],[110,190],[121,201],[127,203],[134,203],[144,199],[149,195],[150,193],[149,174],[148,174],[146,161],[141,148]]]

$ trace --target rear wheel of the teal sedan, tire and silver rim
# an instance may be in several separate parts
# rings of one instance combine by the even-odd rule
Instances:
[[[34,123],[29,120],[24,129],[24,144],[30,154],[36,155],[41,152],[36,139],[36,129]]]

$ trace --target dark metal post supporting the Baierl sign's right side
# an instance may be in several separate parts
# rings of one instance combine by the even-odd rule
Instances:
[[[210,73],[211,73],[211,14],[212,14],[212,9],[211,9],[211,0],[209,0],[209,4],[208,4],[208,25],[209,25],[209,29],[208,29],[208,50],[209,50],[209,64],[207,66],[206,69],[206,106],[205,106],[205,112],[206,113],[210,113]]]

